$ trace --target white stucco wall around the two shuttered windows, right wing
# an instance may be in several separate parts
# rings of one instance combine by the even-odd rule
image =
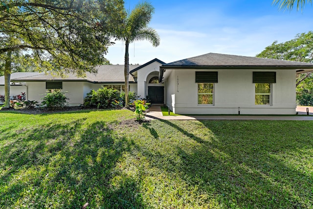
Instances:
[[[195,71],[201,70],[175,70],[167,77],[167,105],[170,104],[168,99],[175,94],[175,101],[171,104],[174,113],[238,114],[240,107],[241,114],[295,114],[295,70],[273,70],[276,71],[276,83],[272,84],[270,106],[255,105],[255,84],[252,83],[253,71],[269,70],[211,70],[218,71],[213,105],[198,105]],[[177,76],[179,92],[176,91]]]

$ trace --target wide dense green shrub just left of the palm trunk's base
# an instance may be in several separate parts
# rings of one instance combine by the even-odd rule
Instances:
[[[114,89],[102,87],[97,91],[91,90],[84,99],[85,107],[109,108],[120,106],[119,93]]]

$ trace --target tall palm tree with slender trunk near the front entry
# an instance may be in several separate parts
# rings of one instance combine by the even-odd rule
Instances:
[[[153,13],[154,7],[150,3],[138,3],[132,12],[125,16],[123,26],[118,31],[117,39],[125,42],[125,107],[129,107],[129,44],[141,40],[148,40],[155,47],[160,44],[156,30],[148,27]]]

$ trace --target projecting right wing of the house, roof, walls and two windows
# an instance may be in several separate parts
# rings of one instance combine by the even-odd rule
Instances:
[[[296,114],[296,75],[313,64],[208,53],[160,67],[176,114]]]

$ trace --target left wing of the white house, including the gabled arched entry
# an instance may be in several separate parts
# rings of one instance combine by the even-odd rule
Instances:
[[[164,85],[158,83],[159,67],[162,64],[165,63],[154,59],[144,65],[130,65],[130,91],[137,93],[141,98],[151,97],[154,99],[154,104],[163,104]],[[84,98],[92,89],[97,90],[104,86],[118,91],[125,90],[124,65],[103,65],[98,66],[97,70],[96,74],[86,73],[84,78],[76,77],[74,74],[67,74],[62,78],[39,72],[20,72],[18,76],[12,73],[11,83],[18,84],[18,86],[13,91],[11,86],[11,95],[27,92],[26,99],[42,101],[46,92],[61,89],[63,92],[67,92],[69,106],[77,106],[83,104]],[[4,85],[4,76],[0,76],[0,81],[1,79]],[[161,93],[155,93],[155,88],[163,89]],[[4,94],[4,86],[3,90],[0,89],[0,94]],[[160,99],[160,94],[162,94],[162,99]]]

